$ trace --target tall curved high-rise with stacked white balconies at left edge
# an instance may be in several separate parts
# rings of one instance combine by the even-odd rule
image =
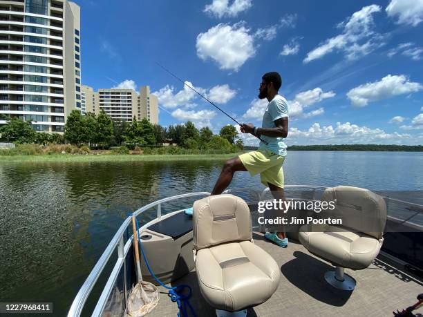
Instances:
[[[81,100],[79,6],[66,0],[0,1],[0,126],[30,120],[63,132]]]

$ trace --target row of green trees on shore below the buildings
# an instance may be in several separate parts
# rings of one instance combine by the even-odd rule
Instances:
[[[224,126],[218,135],[214,135],[209,127],[200,130],[188,121],[168,127],[151,124],[146,118],[133,117],[132,122],[114,121],[104,111],[99,115],[72,111],[64,126],[64,134],[36,132],[30,122],[12,118],[8,124],[0,128],[0,140],[18,144],[64,144],[77,146],[127,146],[129,148],[157,147],[169,143],[188,149],[239,151],[243,142],[238,138],[236,128]]]

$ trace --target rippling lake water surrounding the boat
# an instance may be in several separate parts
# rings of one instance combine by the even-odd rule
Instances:
[[[128,213],[211,191],[222,164],[0,162],[1,301],[53,302],[54,315],[65,316]],[[422,171],[423,153],[290,151],[284,164],[285,184],[384,191],[422,190]],[[236,187],[263,189],[248,173],[235,175]]]

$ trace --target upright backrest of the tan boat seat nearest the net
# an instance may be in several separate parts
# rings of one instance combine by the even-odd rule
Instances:
[[[250,208],[234,195],[215,195],[194,202],[194,249],[252,239]]]

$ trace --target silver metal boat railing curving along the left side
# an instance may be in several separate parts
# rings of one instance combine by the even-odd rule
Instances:
[[[156,207],[156,218],[160,218],[162,217],[162,204],[165,202],[180,200],[182,198],[192,198],[196,196],[208,195],[210,195],[210,193],[208,192],[198,192],[186,193],[182,195],[163,198],[161,200],[157,200],[156,202],[151,202],[150,204],[142,206],[140,209],[135,211],[133,215],[138,216],[141,213],[144,213],[145,211]],[[75,296],[75,299],[73,300],[71,309],[69,309],[68,317],[80,316],[82,314],[82,310],[84,309],[84,305],[86,303],[86,300],[88,299],[88,296],[91,294],[91,290],[95,286],[95,283],[97,282],[98,278],[100,277],[100,274],[104,270],[104,267],[106,267],[107,262],[109,262],[109,259],[111,258],[112,254],[115,252],[115,250],[118,250],[118,260],[115,262],[115,266],[113,267],[111,275],[106,282],[106,285],[102,291],[102,294],[100,295],[99,300],[97,301],[97,305],[95,306],[95,309],[92,314],[92,316],[101,316],[102,311],[106,306],[106,301],[109,298],[109,294],[111,294],[111,291],[113,289],[113,285],[115,284],[115,281],[118,278],[118,274],[122,269],[122,266],[125,265],[126,253],[128,253],[129,248],[131,247],[131,240],[127,241],[126,244],[124,244],[124,233],[126,233],[126,229],[129,227],[130,224],[131,216],[128,216],[128,218],[124,220],[118,231],[115,233],[115,236],[113,236],[111,242],[104,250],[102,256],[100,256],[100,259],[95,264],[93,270],[86,278],[82,287],[79,289],[77,296]],[[126,291],[126,278],[124,278],[124,291]],[[124,298],[126,299],[126,294]]]

